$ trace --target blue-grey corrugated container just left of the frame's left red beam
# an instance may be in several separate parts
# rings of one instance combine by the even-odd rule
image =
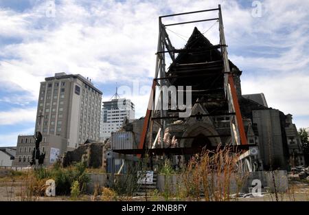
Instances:
[[[111,149],[135,149],[137,142],[132,131],[117,131],[111,133]]]

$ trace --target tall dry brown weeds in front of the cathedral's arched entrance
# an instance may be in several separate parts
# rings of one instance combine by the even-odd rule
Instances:
[[[230,185],[238,173],[238,154],[229,148],[215,152],[203,150],[192,157],[182,174],[182,183],[187,197],[195,200],[205,196],[205,201],[230,201]]]

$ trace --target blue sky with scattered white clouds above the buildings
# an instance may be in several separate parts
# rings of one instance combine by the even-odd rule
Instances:
[[[115,93],[116,82],[120,94],[134,86],[127,97],[136,117],[143,116],[155,73],[157,17],[218,3],[229,58],[243,71],[242,92],[263,92],[269,106],[293,115],[297,128],[308,127],[309,1],[0,0],[0,146],[34,132],[39,84],[56,72],[91,78],[103,100]],[[173,45],[182,47],[194,26],[201,32],[213,26],[205,36],[218,43],[216,23],[196,23],[168,27]]]

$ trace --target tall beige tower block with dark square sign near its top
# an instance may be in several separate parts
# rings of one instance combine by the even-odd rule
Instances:
[[[76,148],[100,137],[102,92],[80,75],[56,73],[41,82],[36,131],[67,139]]]

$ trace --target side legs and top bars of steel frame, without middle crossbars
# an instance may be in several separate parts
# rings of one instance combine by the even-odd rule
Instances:
[[[211,21],[214,19],[206,19],[206,20],[199,20],[199,21],[189,21],[189,22],[183,22],[183,23],[173,23],[168,25],[163,25],[162,19],[165,17],[170,16],[180,16],[185,14],[194,14],[199,12],[209,12],[218,10],[218,18],[216,18],[219,21],[219,34],[220,34],[220,44],[216,47],[220,47],[221,54],[222,54],[222,60],[224,69],[222,73],[224,74],[224,90],[225,90],[225,97],[227,98],[228,104],[229,104],[229,113],[236,113],[236,117],[231,117],[231,136],[240,136],[240,142],[236,142],[237,138],[232,138],[232,144],[233,145],[247,145],[247,137],[244,133],[244,126],[242,123],[242,115],[240,113],[240,107],[238,104],[238,98],[237,93],[235,89],[235,85],[233,83],[233,76],[231,75],[231,71],[229,69],[229,59],[227,54],[227,44],[225,42],[225,33],[224,33],[224,27],[223,27],[223,21],[222,21],[222,11],[221,6],[218,5],[218,8],[210,9],[210,10],[199,10],[194,12],[185,12],[180,14],[170,14],[166,16],[159,16],[159,37],[158,37],[158,46],[157,46],[157,59],[156,59],[156,68],[155,68],[155,78],[152,82],[152,92],[150,95],[150,100],[148,103],[148,109],[146,112],[146,117],[144,121],[144,127],[143,131],[141,133],[141,139],[139,141],[139,149],[145,150],[145,143],[146,143],[146,137],[147,132],[149,130],[149,142],[152,144],[152,127],[154,123],[154,113],[155,113],[155,91],[157,84],[159,84],[161,87],[168,86],[169,84],[169,78],[165,76],[165,53],[170,54],[170,57],[172,58],[172,61],[174,61],[175,56],[174,54],[176,52],[179,52],[179,50],[174,49],[172,46],[172,43],[170,41],[170,38],[165,30],[165,26],[168,25],[183,25],[186,23],[195,23],[200,21]],[[160,119],[161,123],[161,148],[163,148],[163,136],[165,131],[165,119],[168,119],[170,117],[167,116],[167,111],[163,111],[163,92],[160,91],[159,95],[159,102],[160,102]],[[233,114],[232,114],[233,115]],[[236,126],[236,133],[233,132],[233,124]],[[140,157],[141,155],[139,155]]]

